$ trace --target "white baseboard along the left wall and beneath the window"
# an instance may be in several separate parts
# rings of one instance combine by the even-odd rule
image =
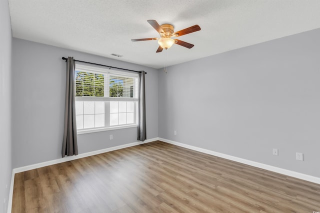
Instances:
[[[136,141],[136,142],[126,143],[123,145],[117,145],[117,146],[113,146],[113,147],[109,147],[109,148],[103,148],[103,149],[99,149],[99,150],[95,150],[95,151],[81,153],[78,155],[65,156],[65,157],[59,158],[59,159],[54,159],[54,160],[49,160],[49,161],[45,161],[45,162],[35,163],[32,165],[26,165],[26,166],[22,166],[22,167],[18,167],[18,168],[13,168],[12,169],[12,176],[11,176],[11,183],[10,183],[10,192],[9,192],[9,198],[8,198],[7,213],[11,213],[13,184],[14,184],[14,174],[15,173],[19,173],[22,171],[27,171],[27,170],[31,170],[31,169],[35,169],[35,168],[40,168],[40,167],[47,166],[47,165],[53,165],[53,164],[60,163],[60,162],[66,162],[66,161],[70,161],[70,160],[74,160],[74,159],[79,159],[82,157],[87,157],[87,156],[100,154],[100,153],[104,153],[104,152],[108,152],[108,151],[114,151],[114,150],[121,149],[121,148],[140,145],[140,144],[152,142],[155,140],[159,140],[159,138],[154,137],[154,138],[146,139],[144,141]]]

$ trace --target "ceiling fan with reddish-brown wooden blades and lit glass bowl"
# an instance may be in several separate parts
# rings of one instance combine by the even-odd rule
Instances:
[[[199,25],[195,24],[193,26],[174,32],[174,27],[171,24],[165,23],[165,24],[159,25],[158,22],[156,22],[156,20],[147,20],[147,21],[151,26],[153,26],[153,28],[160,34],[161,37],[131,39],[131,41],[158,40],[159,47],[156,50],[156,52],[161,52],[163,49],[170,48],[173,43],[184,46],[186,48],[192,48],[194,46],[193,44],[179,40],[179,39],[172,39],[171,37],[178,37],[178,36],[195,32],[201,29]]]

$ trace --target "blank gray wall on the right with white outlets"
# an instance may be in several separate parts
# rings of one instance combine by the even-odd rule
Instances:
[[[319,38],[315,29],[159,69],[159,137],[320,177]]]

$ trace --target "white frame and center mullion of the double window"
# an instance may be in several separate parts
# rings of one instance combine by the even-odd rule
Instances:
[[[109,94],[109,75],[122,75],[122,76],[128,76],[133,77],[136,82],[134,85],[138,87],[139,82],[139,75],[138,73],[132,73],[132,72],[126,72],[126,71],[118,71],[118,70],[112,70],[97,66],[89,66],[89,65],[83,65],[76,63],[75,64],[75,70],[81,70],[81,71],[87,71],[87,72],[98,72],[98,73],[104,73],[104,93]],[[91,132],[98,132],[98,131],[107,131],[107,130],[114,130],[114,129],[122,129],[122,128],[132,128],[137,126],[138,122],[138,88],[135,88],[133,90],[134,97],[93,97],[93,96],[75,96],[75,101],[105,101],[104,105],[104,111],[105,111],[105,120],[104,123],[106,126],[103,127],[93,127],[93,128],[83,128],[83,129],[77,129],[77,134],[84,134],[84,133],[91,133]],[[109,125],[109,117],[110,117],[110,106],[108,101],[133,101],[136,102],[134,104],[134,123],[133,124],[122,124],[122,125]]]

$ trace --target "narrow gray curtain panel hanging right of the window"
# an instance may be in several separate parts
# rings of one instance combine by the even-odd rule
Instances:
[[[144,89],[145,72],[140,73],[139,83],[139,122],[138,122],[138,140],[146,139],[146,124],[145,124],[145,89]]]

